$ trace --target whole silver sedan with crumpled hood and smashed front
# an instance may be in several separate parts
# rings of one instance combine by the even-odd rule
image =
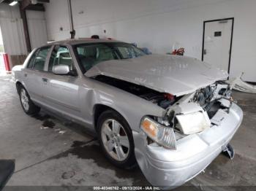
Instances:
[[[53,42],[12,69],[26,114],[42,107],[95,130],[111,163],[138,163],[162,188],[195,177],[236,133],[243,112],[227,76],[194,58],[102,39]]]

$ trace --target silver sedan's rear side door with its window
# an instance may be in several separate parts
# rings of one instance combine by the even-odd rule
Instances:
[[[50,46],[39,48],[31,55],[29,63],[24,69],[24,83],[32,100],[42,103],[42,83],[45,76],[45,63]]]

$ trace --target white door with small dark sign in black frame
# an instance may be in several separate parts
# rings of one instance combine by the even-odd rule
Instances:
[[[233,19],[206,21],[203,61],[229,72]]]

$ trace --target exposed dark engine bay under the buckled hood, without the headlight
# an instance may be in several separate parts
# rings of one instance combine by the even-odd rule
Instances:
[[[176,97],[169,93],[159,93],[156,90],[151,90],[148,87],[141,85],[136,85],[131,82],[126,82],[121,79],[116,79],[113,77],[107,77],[104,75],[99,75],[94,77],[99,82],[104,82],[105,84],[111,85],[113,87],[118,87],[121,90],[127,91],[134,95],[139,96],[147,101],[151,101],[153,104],[157,104],[163,109],[176,104],[181,98],[186,95]],[[223,108],[222,104],[217,102],[219,98],[230,98],[231,91],[225,82],[218,81],[213,85],[208,85],[207,87],[200,88],[199,90],[192,93],[188,102],[193,102],[199,104],[209,115],[209,118],[214,116],[218,109]]]

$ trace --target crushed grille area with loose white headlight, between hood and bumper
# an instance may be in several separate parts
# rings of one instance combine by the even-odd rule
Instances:
[[[228,113],[232,102],[229,85],[216,82],[195,93],[184,95],[167,109],[166,116],[172,128],[189,135],[211,128],[211,124],[218,125],[221,117],[217,113]]]

